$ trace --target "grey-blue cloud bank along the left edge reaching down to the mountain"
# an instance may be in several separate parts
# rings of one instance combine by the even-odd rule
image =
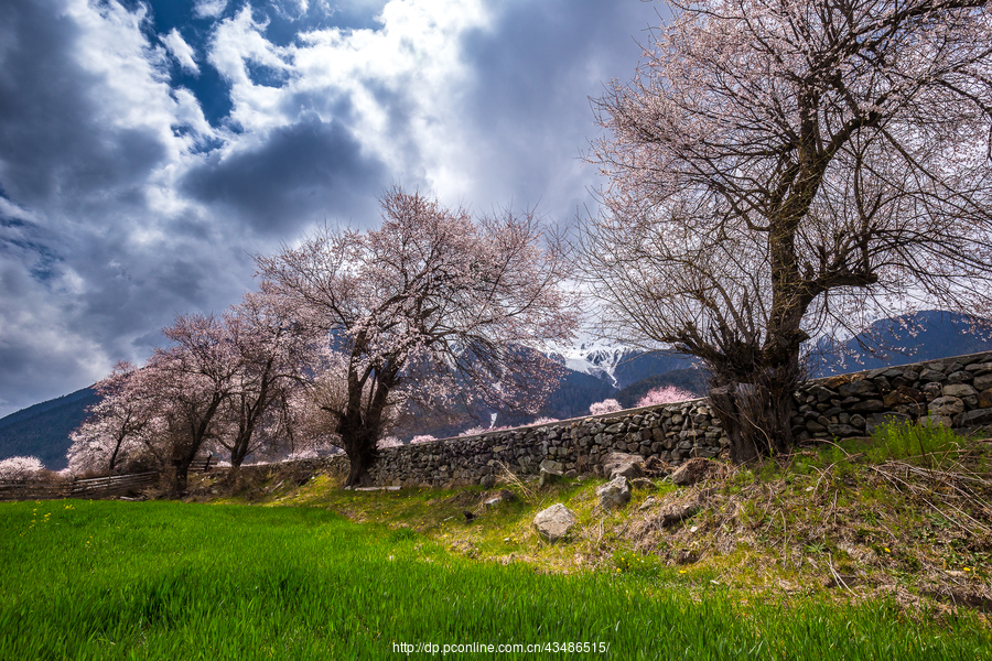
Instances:
[[[142,360],[150,347],[134,338],[149,327],[242,286],[149,207],[149,178],[173,156],[161,132],[115,121],[111,75],[84,66],[104,64],[80,58],[90,9],[0,3],[0,415]],[[134,240],[151,228],[165,238]],[[175,249],[201,263],[174,262]]]

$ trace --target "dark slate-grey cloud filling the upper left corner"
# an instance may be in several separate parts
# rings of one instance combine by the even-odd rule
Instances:
[[[0,183],[13,202],[47,205],[127,193],[164,155],[134,129],[93,126],[100,77],[74,53],[79,28],[57,3],[0,6]]]

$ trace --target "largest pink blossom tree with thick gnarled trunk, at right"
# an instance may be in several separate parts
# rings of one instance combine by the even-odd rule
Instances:
[[[802,343],[992,310],[984,0],[672,0],[596,102],[608,332],[697,356],[735,460],[787,452]]]

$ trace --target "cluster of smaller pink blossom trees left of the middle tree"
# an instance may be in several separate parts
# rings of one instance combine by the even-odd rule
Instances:
[[[252,453],[299,449],[301,375],[320,369],[320,355],[289,313],[277,297],[249,293],[220,316],[179,316],[163,329],[170,347],[140,369],[118,364],[96,384],[101,400],[72,434],[69,469],[152,464],[174,472],[183,487],[204,449],[223,452],[233,466]]]

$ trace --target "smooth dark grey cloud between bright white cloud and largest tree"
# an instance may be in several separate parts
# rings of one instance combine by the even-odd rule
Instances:
[[[590,201],[594,167],[581,154],[597,129],[589,97],[611,78],[629,79],[636,39],[657,24],[656,6],[639,0],[510,1],[498,23],[465,47],[476,72],[467,111],[481,160],[521,204],[552,215]]]

